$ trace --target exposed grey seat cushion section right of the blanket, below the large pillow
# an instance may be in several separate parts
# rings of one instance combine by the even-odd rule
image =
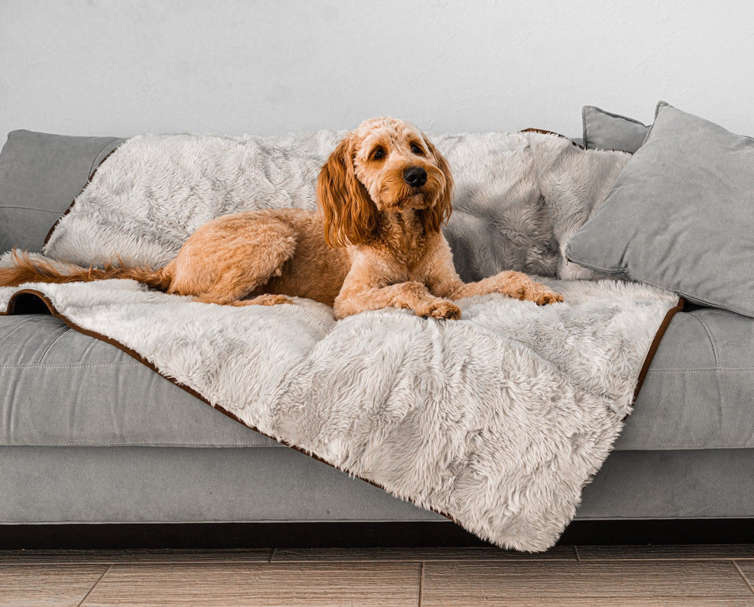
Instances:
[[[687,306],[660,342],[615,449],[754,448],[754,319]]]

